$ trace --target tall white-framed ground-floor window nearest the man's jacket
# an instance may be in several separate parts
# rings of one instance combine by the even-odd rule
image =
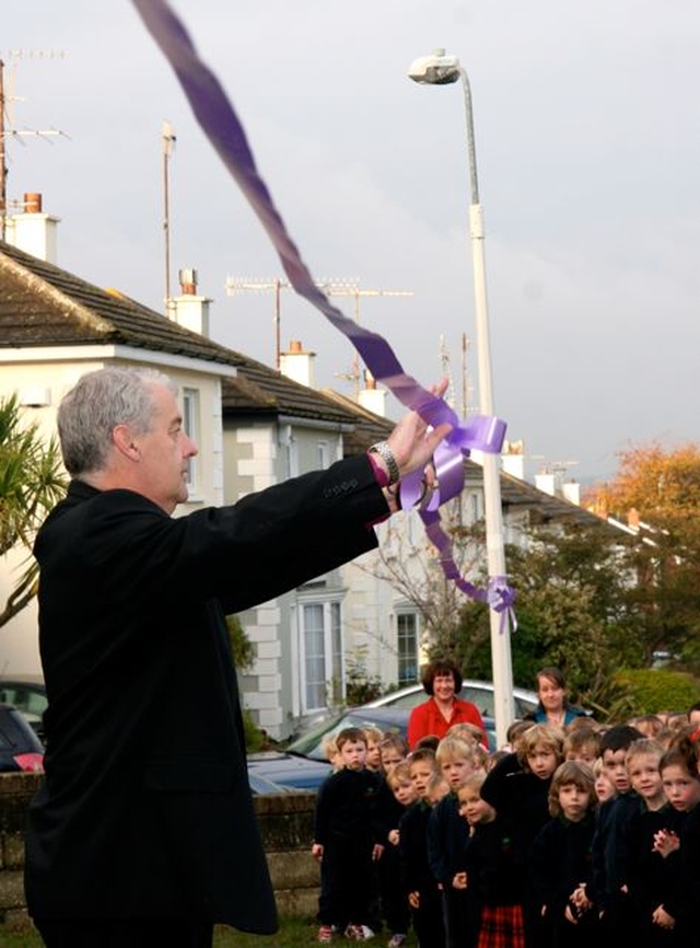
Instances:
[[[343,696],[342,617],[339,600],[300,605],[303,713]]]

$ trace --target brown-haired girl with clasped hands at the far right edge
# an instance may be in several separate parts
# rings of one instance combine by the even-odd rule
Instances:
[[[661,759],[664,794],[676,812],[674,830],[657,834],[655,847],[675,869],[675,885],[652,918],[674,948],[698,943],[697,901],[700,878],[700,773],[698,744],[679,733]],[[673,935],[673,939],[670,936]]]

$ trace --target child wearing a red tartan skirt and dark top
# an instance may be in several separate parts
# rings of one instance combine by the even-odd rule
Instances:
[[[475,772],[457,790],[469,836],[465,871],[455,887],[467,893],[470,938],[476,948],[524,948],[523,879],[508,828],[481,796],[486,774]]]

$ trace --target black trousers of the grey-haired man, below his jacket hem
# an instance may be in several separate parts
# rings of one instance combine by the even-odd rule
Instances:
[[[34,918],[46,948],[211,948],[214,926],[160,918]]]

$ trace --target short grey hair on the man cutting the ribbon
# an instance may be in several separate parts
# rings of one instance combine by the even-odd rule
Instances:
[[[127,368],[89,372],[68,392],[56,420],[63,464],[72,477],[104,470],[117,425],[128,425],[137,435],[150,430],[154,384],[177,395],[177,385],[162,372]]]

